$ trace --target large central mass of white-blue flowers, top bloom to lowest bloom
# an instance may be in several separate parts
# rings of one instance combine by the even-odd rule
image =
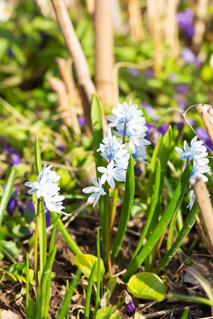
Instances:
[[[102,188],[105,181],[108,182],[112,189],[115,188],[116,181],[125,181],[126,169],[128,166],[129,156],[128,150],[125,148],[128,142],[129,148],[132,150],[131,156],[138,159],[138,161],[146,163],[146,145],[151,144],[145,139],[147,127],[145,125],[145,118],[141,117],[143,112],[137,110],[137,104],[131,105],[123,102],[118,104],[117,109],[113,108],[112,113],[115,116],[107,116],[111,122],[108,126],[107,137],[102,140],[99,145],[100,155],[108,162],[107,167],[100,166],[97,168],[98,172],[103,173],[98,181],[91,175],[91,180],[94,186],[84,188],[83,193],[93,193],[89,196],[88,202],[96,205],[101,195],[106,192]],[[115,127],[112,135],[111,127]],[[121,136],[122,138],[116,138]]]

